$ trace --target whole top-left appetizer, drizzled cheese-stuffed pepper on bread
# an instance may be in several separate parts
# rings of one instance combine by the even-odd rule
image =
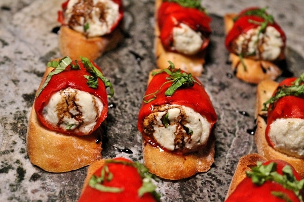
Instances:
[[[72,60],[95,60],[122,40],[121,0],[67,0],[58,12],[59,50]]]

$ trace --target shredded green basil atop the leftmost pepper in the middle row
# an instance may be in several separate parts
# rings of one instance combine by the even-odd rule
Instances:
[[[112,87],[112,84],[110,81],[103,76],[103,74],[91,63],[91,61],[88,58],[81,57],[82,63],[84,64],[84,67],[86,68],[87,72],[91,74],[91,76],[84,75],[86,79],[88,79],[87,85],[91,88],[97,88],[98,86],[98,79],[100,78],[102,82],[105,85],[105,88],[109,87],[110,93],[108,94],[108,97],[112,97],[114,94],[114,90]],[[51,80],[52,76],[55,74],[59,74],[60,72],[64,71],[65,68],[69,65],[71,65],[72,70],[79,70],[80,66],[78,64],[78,61],[75,60],[75,65],[71,64],[72,60],[65,56],[64,58],[58,60],[58,61],[51,61],[47,63],[47,67],[53,67],[55,68],[53,71],[51,71],[46,81],[43,83],[41,88],[39,89],[37,96],[42,92],[42,90],[48,85],[49,81]]]

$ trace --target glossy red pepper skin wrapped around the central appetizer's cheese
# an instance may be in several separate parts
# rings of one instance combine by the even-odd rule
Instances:
[[[173,70],[177,71],[177,70]],[[184,71],[180,70],[181,73]],[[145,100],[153,97],[154,94],[156,98],[151,100],[151,102],[143,102],[138,115],[138,130],[142,133],[143,138],[149,142],[153,146],[159,146],[157,142],[152,139],[150,136],[145,135],[143,132],[143,121],[145,117],[147,117],[155,107],[162,105],[180,105],[192,108],[194,111],[198,112],[202,116],[206,117],[208,122],[211,124],[211,128],[217,121],[217,116],[209,95],[204,89],[203,84],[195,79],[195,83],[192,87],[180,87],[176,89],[176,91],[170,95],[165,95],[166,90],[171,86],[171,83],[168,83],[168,74],[166,72],[162,72],[156,74],[153,79],[149,82],[146,92],[145,92]],[[166,83],[167,82],[167,83]]]

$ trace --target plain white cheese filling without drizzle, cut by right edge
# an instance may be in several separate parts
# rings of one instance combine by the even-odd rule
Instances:
[[[290,156],[304,158],[303,119],[277,119],[271,124],[268,135],[275,149]]]

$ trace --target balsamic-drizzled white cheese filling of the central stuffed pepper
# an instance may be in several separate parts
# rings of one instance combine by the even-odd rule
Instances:
[[[143,122],[144,133],[170,151],[195,151],[205,146],[211,124],[192,108],[164,105],[155,108]]]

